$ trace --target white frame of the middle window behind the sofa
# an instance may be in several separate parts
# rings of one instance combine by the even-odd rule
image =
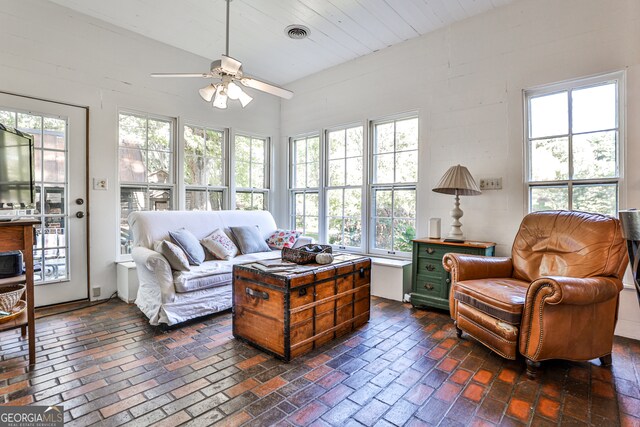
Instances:
[[[191,128],[199,128],[202,129],[205,132],[207,131],[214,131],[214,132],[221,132],[222,133],[222,185],[209,185],[209,184],[187,184],[185,182],[185,170],[184,170],[184,162],[185,159],[187,158],[186,153],[185,153],[185,137],[184,137],[184,131],[186,127],[191,127]],[[213,126],[206,126],[206,125],[199,125],[196,124],[195,122],[191,122],[191,121],[187,121],[184,123],[181,123],[180,128],[182,130],[182,132],[180,133],[180,139],[181,139],[181,148],[180,148],[180,152],[182,153],[182,155],[178,156],[179,157],[179,163],[180,163],[180,173],[178,176],[181,177],[180,180],[180,185],[181,185],[181,191],[180,191],[180,200],[182,200],[183,202],[180,204],[180,206],[182,206],[185,210],[187,210],[187,191],[204,191],[206,196],[207,196],[207,200],[209,198],[209,193],[210,192],[222,192],[222,209],[228,209],[229,206],[229,174],[230,174],[230,149],[229,149],[229,129],[227,128],[218,128],[218,127],[213,127]],[[205,143],[206,143],[206,136],[205,136]],[[206,156],[205,156],[206,158]]]

